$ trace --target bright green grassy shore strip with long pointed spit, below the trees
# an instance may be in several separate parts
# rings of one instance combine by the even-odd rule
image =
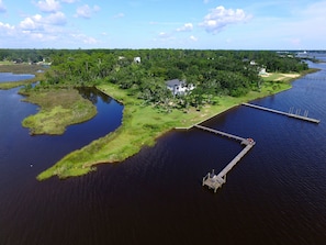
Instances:
[[[306,74],[301,74],[295,79],[304,75]],[[160,136],[171,130],[190,129],[192,125],[207,121],[239,105],[241,102],[249,102],[285,91],[292,88],[290,80],[293,79],[288,78],[286,81],[282,80],[281,82],[266,81],[261,91],[250,91],[240,98],[218,98],[217,105],[204,107],[200,112],[193,110],[186,113],[173,110],[169,114],[159,112],[153,107],[142,107],[140,100],[128,97],[126,91],[114,85],[98,86],[99,90],[124,105],[121,126],[89,145],[64,156],[36,178],[44,180],[53,176],[58,176],[60,179],[82,176],[95,170],[95,165],[121,163],[137,154],[144,146],[155,145]]]

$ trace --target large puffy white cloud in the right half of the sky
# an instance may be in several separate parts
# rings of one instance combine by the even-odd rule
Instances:
[[[229,24],[243,23],[250,19],[241,9],[225,9],[223,5],[212,9],[200,23],[206,32],[216,34]]]

